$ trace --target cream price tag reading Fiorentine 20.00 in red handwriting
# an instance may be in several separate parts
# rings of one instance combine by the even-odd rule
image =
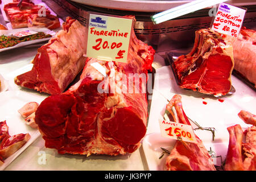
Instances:
[[[90,14],[87,57],[126,63],[133,19]]]

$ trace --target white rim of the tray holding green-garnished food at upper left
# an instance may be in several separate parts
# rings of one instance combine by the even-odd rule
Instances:
[[[55,34],[56,34],[55,31],[51,31],[51,30],[49,30],[48,28],[45,28],[45,27],[42,27],[42,28],[30,27],[30,28],[16,28],[14,30],[0,30],[0,35],[10,36],[11,34],[13,34],[15,32],[19,32],[19,31],[23,31],[23,30],[33,30],[33,31],[36,31],[36,32],[44,32],[45,34],[52,35],[52,37],[55,36]],[[28,46],[28,45],[35,44],[35,43],[44,42],[44,41],[47,41],[49,39],[51,39],[51,38],[36,39],[36,40],[21,42],[19,44],[16,44],[13,47],[2,48],[2,49],[0,49],[0,52],[7,51],[7,50],[10,50],[10,49],[14,49],[14,48],[18,48],[18,47]]]

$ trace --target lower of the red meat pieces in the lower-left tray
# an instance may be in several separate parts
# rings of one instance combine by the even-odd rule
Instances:
[[[30,134],[28,133],[11,136],[0,144],[0,156],[2,156],[3,159],[8,158],[18,151],[29,139]]]

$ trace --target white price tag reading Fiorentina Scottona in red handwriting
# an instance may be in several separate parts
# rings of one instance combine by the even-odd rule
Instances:
[[[246,10],[226,3],[220,3],[216,13],[212,30],[221,34],[237,37],[241,30]]]

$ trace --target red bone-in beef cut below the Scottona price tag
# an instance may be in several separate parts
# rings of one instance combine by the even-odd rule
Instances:
[[[192,51],[178,57],[172,67],[181,88],[225,95],[232,86],[233,49],[218,32],[201,29],[196,31]]]

